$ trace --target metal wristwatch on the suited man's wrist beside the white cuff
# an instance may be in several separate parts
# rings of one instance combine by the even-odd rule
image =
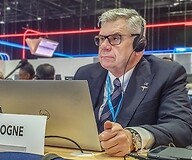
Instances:
[[[128,128],[128,130],[132,134],[132,143],[133,143],[134,151],[140,150],[142,148],[142,139],[140,134],[132,128]]]

